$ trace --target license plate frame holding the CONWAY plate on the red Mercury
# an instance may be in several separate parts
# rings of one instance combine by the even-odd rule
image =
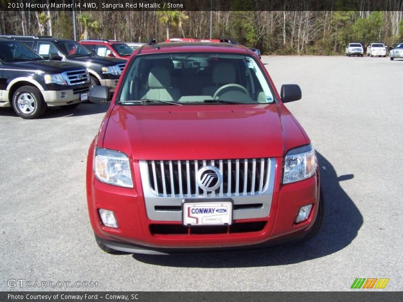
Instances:
[[[191,209],[203,209],[203,212]],[[215,209],[215,211],[212,211]],[[223,209],[217,212],[217,209]],[[225,211],[224,211],[225,210]],[[191,216],[193,215],[193,216]],[[231,198],[199,198],[182,200],[182,224],[185,226],[231,225],[234,201]]]

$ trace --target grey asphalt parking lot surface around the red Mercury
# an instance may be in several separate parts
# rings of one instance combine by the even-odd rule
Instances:
[[[349,290],[355,278],[403,289],[403,60],[263,56],[317,149],[325,192],[319,235],[300,246],[180,256],[109,255],[85,194],[87,149],[105,108],[81,104],[23,120],[0,108],[0,290]],[[98,287],[9,287],[8,280]],[[66,283],[63,283],[66,284]]]

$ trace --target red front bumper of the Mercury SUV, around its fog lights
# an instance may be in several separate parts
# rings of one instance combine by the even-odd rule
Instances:
[[[282,167],[282,159],[276,159]],[[318,172],[300,182],[282,185],[282,169],[275,174],[270,214],[262,218],[236,219],[231,226],[183,226],[181,221],[156,221],[147,215],[139,162],[132,163],[135,187],[101,183],[92,171],[93,145],[87,162],[87,201],[95,236],[104,245],[133,253],[170,254],[183,251],[256,248],[305,236],[316,219],[319,202]],[[253,197],[251,197],[253,198]],[[308,220],[294,223],[301,206],[313,204]],[[119,228],[102,224],[98,209],[112,210]],[[205,228],[205,229],[203,229]]]

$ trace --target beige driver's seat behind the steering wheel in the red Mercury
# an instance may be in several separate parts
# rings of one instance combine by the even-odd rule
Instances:
[[[236,71],[233,64],[220,62],[213,69],[212,82],[214,85],[203,89],[203,95],[214,96],[216,91],[224,85],[236,84]]]

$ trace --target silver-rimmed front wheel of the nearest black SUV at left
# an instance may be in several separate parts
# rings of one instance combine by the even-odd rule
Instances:
[[[46,111],[46,103],[36,87],[23,86],[16,90],[12,101],[14,111],[22,118],[34,119]]]

